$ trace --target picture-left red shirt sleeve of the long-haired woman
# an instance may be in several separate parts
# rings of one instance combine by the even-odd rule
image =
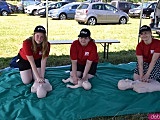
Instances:
[[[25,55],[27,55],[27,56],[32,56],[33,55],[32,42],[31,41],[29,41],[29,40],[23,41],[23,51],[24,51]]]

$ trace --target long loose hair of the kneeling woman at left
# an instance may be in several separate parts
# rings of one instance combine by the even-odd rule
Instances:
[[[29,37],[27,39],[27,40],[31,40],[32,41],[33,53],[37,52],[37,47],[38,47],[38,44],[36,43],[35,38],[34,38],[35,34],[36,33],[33,33],[33,36],[31,36],[31,37]],[[49,52],[48,39],[47,39],[47,35],[46,34],[44,34],[44,40],[41,43],[41,48],[42,48],[42,58],[44,59],[48,55],[48,52]]]

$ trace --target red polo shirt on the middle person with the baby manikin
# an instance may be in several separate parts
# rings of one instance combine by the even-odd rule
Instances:
[[[95,42],[90,41],[87,46],[82,46],[79,40],[75,40],[70,48],[70,58],[77,60],[81,65],[85,65],[87,60],[98,63],[99,57]]]

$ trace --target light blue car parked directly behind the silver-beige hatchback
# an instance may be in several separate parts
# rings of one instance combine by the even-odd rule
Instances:
[[[62,6],[59,9],[53,9],[49,11],[49,16],[52,19],[66,20],[74,19],[75,11],[81,2],[72,2]]]

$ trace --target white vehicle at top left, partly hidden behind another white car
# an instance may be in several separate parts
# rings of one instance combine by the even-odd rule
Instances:
[[[29,5],[37,5],[41,2],[41,0],[21,0],[18,2],[18,10],[25,13],[24,9]]]

